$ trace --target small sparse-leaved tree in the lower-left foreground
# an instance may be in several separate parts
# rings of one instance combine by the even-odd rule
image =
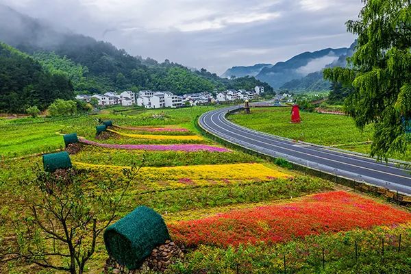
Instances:
[[[107,180],[86,188],[84,175],[73,169],[58,173],[37,169],[36,179],[21,182],[29,190],[24,201],[31,216],[14,222],[13,240],[0,246],[0,263],[21,260],[45,269],[84,273],[99,236],[116,218],[138,170],[133,165],[123,169],[121,179],[107,176]]]

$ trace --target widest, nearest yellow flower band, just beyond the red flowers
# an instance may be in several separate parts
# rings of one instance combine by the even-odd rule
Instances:
[[[104,169],[119,172],[127,166],[110,166],[73,162],[80,169]],[[143,167],[137,180],[159,186],[185,187],[237,182],[262,182],[291,177],[264,164],[214,164],[198,166]]]

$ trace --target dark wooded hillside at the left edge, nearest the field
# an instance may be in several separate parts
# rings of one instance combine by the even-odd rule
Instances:
[[[0,112],[47,108],[55,99],[72,99],[73,85],[60,73],[44,69],[29,55],[0,42]]]

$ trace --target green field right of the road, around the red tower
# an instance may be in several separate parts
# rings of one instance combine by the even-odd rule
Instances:
[[[289,123],[290,110],[290,108],[255,108],[249,115],[238,113],[229,116],[229,120],[260,132],[293,140],[370,153],[371,125],[361,131],[349,116],[316,112],[300,112],[302,123],[292,124]],[[406,154],[397,153],[390,157],[411,161],[411,148]]]

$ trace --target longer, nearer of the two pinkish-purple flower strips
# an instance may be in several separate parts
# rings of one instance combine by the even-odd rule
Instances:
[[[79,142],[86,145],[95,145],[98,147],[105,147],[108,149],[140,149],[140,150],[152,150],[152,151],[214,151],[214,152],[231,152],[224,147],[214,147],[210,145],[196,145],[196,144],[181,144],[181,145],[112,145],[101,144],[79,138]]]

